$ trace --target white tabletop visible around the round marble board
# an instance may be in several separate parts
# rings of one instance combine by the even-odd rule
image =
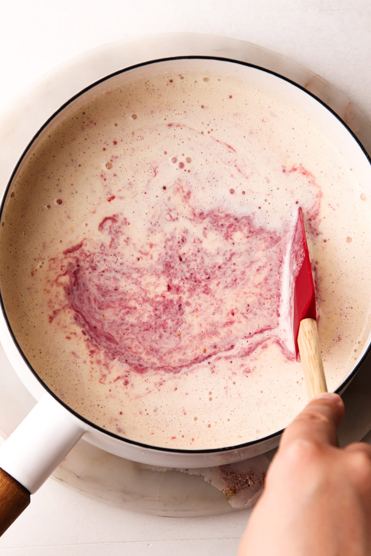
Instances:
[[[333,83],[371,118],[369,0],[12,0],[1,3],[0,112],[58,64],[100,44],[162,32],[255,42]],[[0,539],[24,556],[233,555],[249,511],[202,518],[139,515],[49,479]]]

